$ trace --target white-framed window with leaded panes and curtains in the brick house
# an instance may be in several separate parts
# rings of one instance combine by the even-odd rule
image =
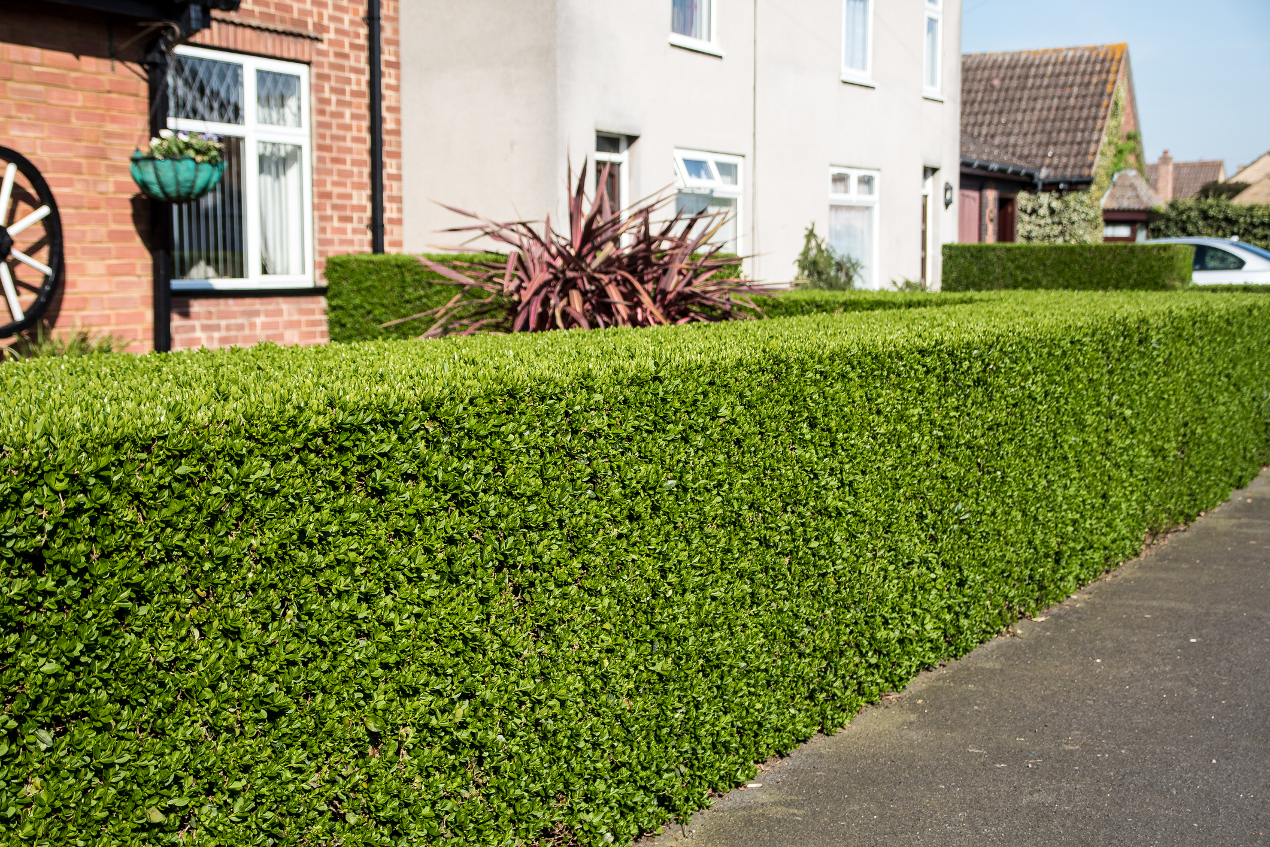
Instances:
[[[307,66],[183,46],[168,91],[168,128],[220,136],[226,165],[173,204],[173,288],[312,286]]]

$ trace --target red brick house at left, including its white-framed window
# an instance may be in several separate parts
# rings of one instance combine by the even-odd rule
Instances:
[[[401,246],[398,44],[398,0],[0,0],[0,147],[38,169],[61,220],[42,320],[133,352],[325,342],[325,257]],[[128,157],[164,127],[224,136],[206,198],[133,184]]]

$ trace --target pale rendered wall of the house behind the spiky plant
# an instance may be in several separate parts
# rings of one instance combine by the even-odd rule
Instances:
[[[601,131],[638,137],[632,197],[671,185],[676,147],[743,156],[740,249],[772,282],[792,278],[809,223],[827,232],[833,165],[880,171],[876,282],[917,278],[922,169],[939,168],[937,279],[939,244],[956,239],[942,187],[959,168],[960,0],[944,5],[936,102],[922,97],[926,0],[875,0],[875,88],[841,81],[842,0],[716,0],[723,57],[669,43],[669,0],[403,4],[406,249],[451,220],[425,197],[563,215],[569,160],[591,156]],[[409,48],[415,33],[428,51]]]

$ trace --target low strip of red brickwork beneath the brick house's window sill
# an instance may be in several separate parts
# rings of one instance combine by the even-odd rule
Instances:
[[[173,297],[171,348],[325,344],[326,298]]]

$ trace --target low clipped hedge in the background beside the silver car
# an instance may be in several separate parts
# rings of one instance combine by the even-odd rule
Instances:
[[[944,291],[1184,288],[1194,254],[1185,244],[945,244]]]

